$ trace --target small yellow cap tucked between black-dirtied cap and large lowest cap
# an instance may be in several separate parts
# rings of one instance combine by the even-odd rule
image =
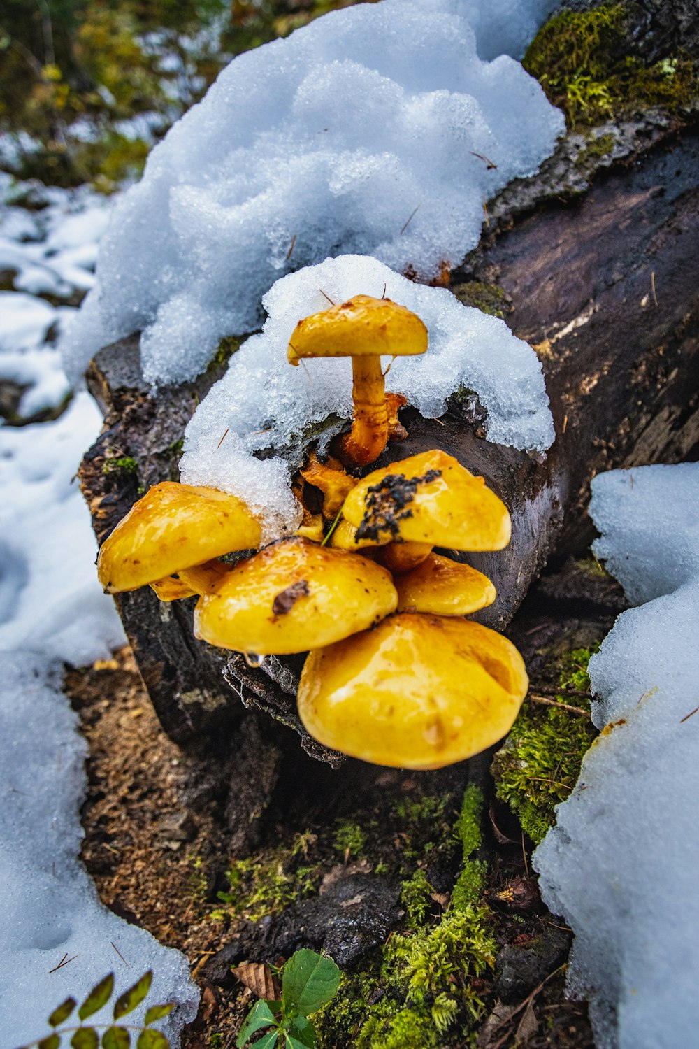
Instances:
[[[497,597],[482,572],[439,554],[430,554],[416,569],[395,576],[394,583],[398,612],[412,608],[433,616],[467,616],[493,604]]]

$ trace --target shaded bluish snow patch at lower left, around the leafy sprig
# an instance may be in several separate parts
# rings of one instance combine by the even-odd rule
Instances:
[[[175,1039],[196,1014],[198,991],[179,951],[102,905],[78,858],[87,747],[60,689],[60,664],[39,654],[3,655],[0,1047],[45,1036],[49,1012],[68,996],[83,1001],[108,972],[114,972],[116,997],[148,968],[152,990],[129,1022],[138,1023],[149,1004],[177,999],[176,1013],[158,1024]],[[105,1008],[93,1022],[110,1019]]]

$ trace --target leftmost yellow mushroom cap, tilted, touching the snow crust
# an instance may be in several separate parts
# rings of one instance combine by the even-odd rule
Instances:
[[[260,524],[235,495],[163,480],[154,485],[102,544],[100,582],[136,590],[181,569],[260,543]]]

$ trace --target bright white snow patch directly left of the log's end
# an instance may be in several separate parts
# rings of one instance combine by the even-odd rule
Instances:
[[[75,666],[123,644],[94,570],[75,472],[102,419],[79,393],[53,423],[0,428],[0,649],[41,648]]]

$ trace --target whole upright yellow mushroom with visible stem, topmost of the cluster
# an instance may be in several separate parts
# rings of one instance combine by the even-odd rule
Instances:
[[[381,355],[423,354],[428,329],[406,306],[370,295],[354,298],[297,324],[287,360],[298,364],[308,357],[351,357],[354,420],[342,443],[352,466],[373,463],[386,448],[390,416],[397,424],[397,402],[387,403]]]

